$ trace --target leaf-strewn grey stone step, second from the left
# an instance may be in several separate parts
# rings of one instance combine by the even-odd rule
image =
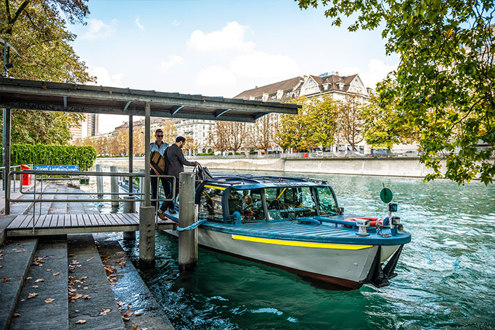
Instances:
[[[29,298],[33,294],[38,295]],[[13,317],[9,329],[68,330],[68,310],[67,241],[39,241],[15,306],[20,316]]]

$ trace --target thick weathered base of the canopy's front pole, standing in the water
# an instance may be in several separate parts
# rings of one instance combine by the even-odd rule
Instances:
[[[139,208],[139,260],[155,261],[155,207]]]

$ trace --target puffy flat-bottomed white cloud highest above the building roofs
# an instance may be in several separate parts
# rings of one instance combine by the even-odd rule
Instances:
[[[221,50],[250,50],[254,47],[252,41],[245,41],[244,35],[249,27],[238,22],[229,22],[220,31],[204,33],[196,30],[191,34],[186,45],[200,52],[215,52]]]

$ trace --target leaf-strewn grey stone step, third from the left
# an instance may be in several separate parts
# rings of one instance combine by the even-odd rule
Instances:
[[[69,329],[124,330],[93,236],[69,235],[68,252]]]

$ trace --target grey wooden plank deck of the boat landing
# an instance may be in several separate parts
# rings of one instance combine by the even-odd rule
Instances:
[[[173,221],[159,220],[156,230],[173,230]],[[6,228],[7,237],[134,232],[139,230],[138,213],[48,214],[16,216]]]

